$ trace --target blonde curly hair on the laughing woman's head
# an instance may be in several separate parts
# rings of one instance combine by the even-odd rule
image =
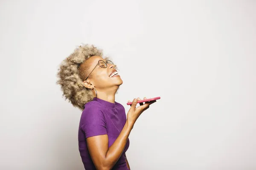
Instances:
[[[58,68],[56,83],[61,86],[62,96],[81,111],[84,110],[87,102],[93,100],[92,89],[84,87],[82,81],[87,75],[88,67],[81,65],[92,56],[102,57],[102,50],[94,45],[80,45],[61,62]]]

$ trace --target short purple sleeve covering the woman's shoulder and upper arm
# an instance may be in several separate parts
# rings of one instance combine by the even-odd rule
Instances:
[[[107,134],[105,117],[96,105],[85,105],[80,124],[85,138]]]

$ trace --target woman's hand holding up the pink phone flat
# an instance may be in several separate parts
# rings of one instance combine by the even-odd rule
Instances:
[[[146,98],[144,97],[144,99],[146,99]],[[150,102],[145,102],[145,104],[140,103],[140,106],[136,108],[138,100],[140,100],[140,98],[137,98],[137,99],[133,100],[133,102],[131,104],[131,108],[127,113],[127,121],[132,126],[134,125],[134,123],[136,122],[136,120],[138,119],[140,114],[143,113],[143,111],[147,110],[149,108],[149,105],[156,102],[156,100],[152,100]],[[130,101],[128,101],[128,102],[130,102]]]

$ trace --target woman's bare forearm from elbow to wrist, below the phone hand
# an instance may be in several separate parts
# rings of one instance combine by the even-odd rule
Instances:
[[[111,145],[111,147],[108,148],[108,152],[105,156],[105,166],[109,169],[111,169],[116,164],[119,157],[121,156],[128,140],[128,136],[131,133],[132,127],[133,125],[129,124],[126,121],[125,126],[123,127],[119,136],[116,138],[115,142]]]

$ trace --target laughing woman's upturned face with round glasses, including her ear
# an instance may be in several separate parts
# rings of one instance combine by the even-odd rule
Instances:
[[[105,59],[103,59],[100,56],[92,56],[86,61],[87,69],[87,76],[90,74],[90,76],[87,78],[87,80],[84,81],[85,86],[87,88],[96,88],[98,89],[105,89],[105,88],[113,88],[113,87],[119,87],[119,85],[122,85],[123,81],[119,74],[116,74],[115,65],[108,63],[107,68],[102,68],[98,63],[99,60],[103,60],[106,62]],[[97,65],[97,66],[96,66]],[[96,66],[96,68],[95,68]],[[93,70],[93,68],[95,68]]]

